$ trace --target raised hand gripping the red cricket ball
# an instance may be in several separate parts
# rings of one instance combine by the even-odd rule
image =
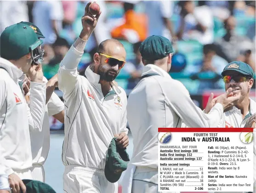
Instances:
[[[94,16],[95,15],[95,16]],[[85,7],[85,15],[82,17],[83,29],[80,33],[80,38],[87,41],[97,25],[101,15],[100,6],[96,2],[89,2]]]

